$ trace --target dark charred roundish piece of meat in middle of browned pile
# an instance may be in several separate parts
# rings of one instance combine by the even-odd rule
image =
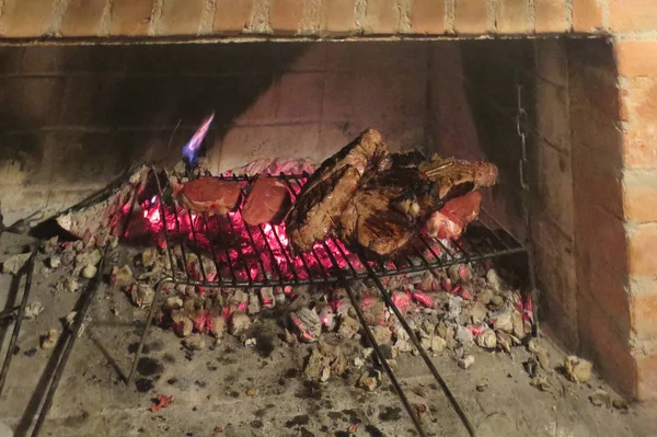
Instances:
[[[395,189],[364,188],[349,199],[338,234],[349,245],[358,244],[378,255],[390,255],[414,235],[414,220],[391,205]]]

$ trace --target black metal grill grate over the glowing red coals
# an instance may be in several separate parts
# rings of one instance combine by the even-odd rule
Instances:
[[[172,274],[176,284],[206,287],[330,284],[366,279],[372,273],[382,277],[443,268],[451,264],[525,251],[498,222],[482,211],[481,217],[470,225],[459,240],[445,242],[418,233],[408,248],[392,257],[367,257],[364,253],[349,251],[334,237],[318,242],[311,252],[295,256],[287,244],[285,225],[247,226],[242,219],[242,206],[226,216],[195,215],[176,206],[166,195],[169,177],[165,172],[152,169],[151,174],[159,175],[153,177],[157,181],[157,193],[154,197],[149,193],[140,208],[142,214],[145,210],[152,212],[157,209],[158,217],[149,225],[151,234],[165,243],[171,264],[175,265],[173,254],[178,252],[185,266],[189,265],[193,256],[203,256],[215,263],[217,272],[206,272],[208,268],[204,263],[199,263],[200,272],[196,275],[188,268],[174,268]],[[278,175],[289,188],[292,200],[308,176]],[[253,182],[253,179],[247,176],[222,179],[238,182],[242,187],[243,197]],[[136,194],[136,197],[143,195]],[[137,202],[134,202],[132,206],[136,204]],[[128,217],[134,219],[139,215],[129,214]],[[130,223],[127,223],[126,229],[130,227]]]

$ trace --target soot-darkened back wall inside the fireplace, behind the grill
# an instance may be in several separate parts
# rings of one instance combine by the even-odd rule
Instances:
[[[51,214],[134,161],[174,163],[212,111],[215,171],[320,162],[368,126],[392,149],[424,147],[428,53],[425,42],[0,48],[2,212]]]

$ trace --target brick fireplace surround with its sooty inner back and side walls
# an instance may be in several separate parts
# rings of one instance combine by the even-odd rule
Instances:
[[[504,180],[487,205],[522,238],[520,84],[544,331],[627,398],[657,396],[648,2],[0,4],[9,222],[70,205],[135,160],[175,162],[217,110],[208,156],[218,171],[267,156],[322,159],[369,125],[392,148],[494,160]]]

